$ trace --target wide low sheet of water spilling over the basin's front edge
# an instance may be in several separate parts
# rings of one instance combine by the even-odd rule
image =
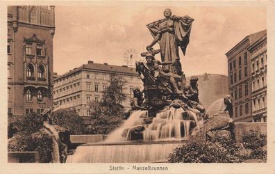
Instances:
[[[169,154],[185,140],[86,143],[78,146],[67,163],[167,162]]]

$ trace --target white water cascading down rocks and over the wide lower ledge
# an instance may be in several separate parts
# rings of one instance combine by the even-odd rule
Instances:
[[[106,141],[78,146],[66,162],[164,162],[169,153],[185,143],[190,129],[200,124],[195,113],[181,107],[158,113],[149,124],[146,119],[151,119],[147,111],[134,111]],[[143,141],[129,141],[138,137],[133,135],[136,131]]]

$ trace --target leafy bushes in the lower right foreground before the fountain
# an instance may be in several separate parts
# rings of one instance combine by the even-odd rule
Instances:
[[[173,163],[238,163],[247,159],[264,161],[267,159],[267,151],[263,150],[266,144],[266,135],[256,132],[244,133],[242,143],[236,143],[229,136],[217,135],[209,141],[188,141],[169,154],[168,161]]]

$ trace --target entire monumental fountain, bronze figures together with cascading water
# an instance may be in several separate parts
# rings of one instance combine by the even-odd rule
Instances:
[[[169,153],[186,140],[205,134],[205,129],[214,130],[217,118],[228,122],[224,113],[215,117],[214,113],[206,113],[199,102],[198,79],[192,77],[187,84],[181,70],[178,47],[185,54],[194,19],[176,17],[169,9],[164,15],[165,19],[147,25],[154,39],[147,46],[148,52],[141,54],[147,63],[136,63],[144,90],[133,89],[129,118],[105,141],[78,146],[74,155],[67,157],[67,163],[166,162]],[[160,49],[153,50],[156,42]],[[161,62],[154,58],[158,53]]]

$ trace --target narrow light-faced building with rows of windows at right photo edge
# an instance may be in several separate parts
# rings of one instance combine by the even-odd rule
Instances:
[[[254,122],[267,121],[267,35],[248,48],[251,53],[252,116]]]

